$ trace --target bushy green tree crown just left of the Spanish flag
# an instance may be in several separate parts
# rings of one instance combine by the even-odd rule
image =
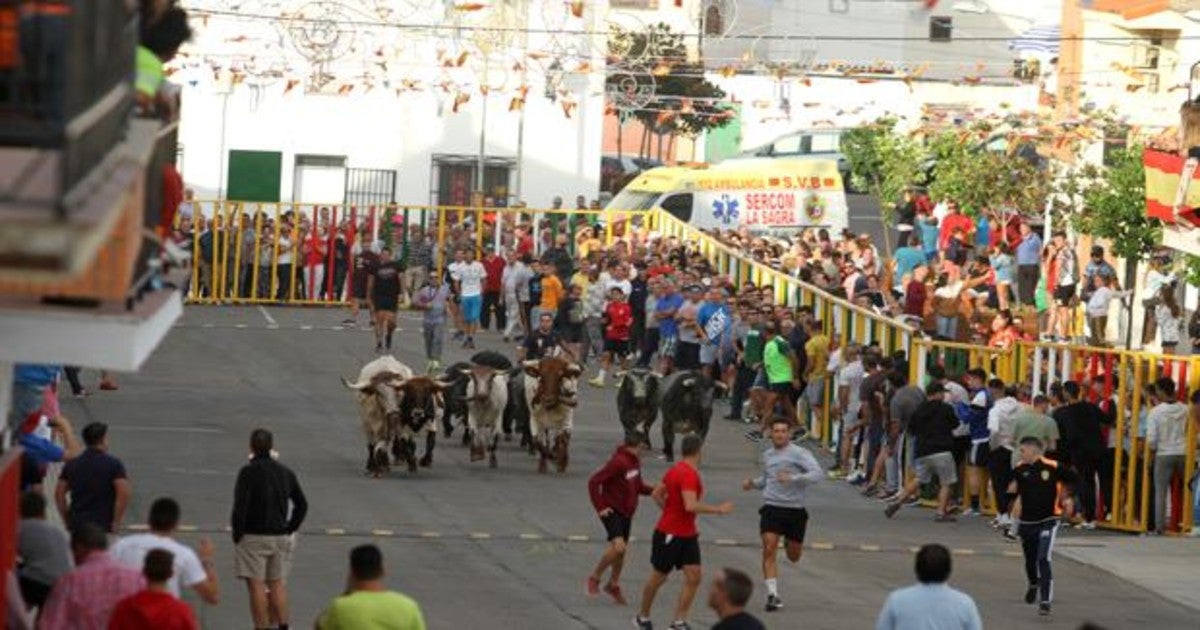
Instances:
[[[1067,216],[1072,228],[1108,239],[1112,253],[1141,260],[1158,247],[1163,228],[1146,216],[1146,172],[1141,146],[1116,151],[1109,167],[1087,164],[1074,175],[1082,211]]]

